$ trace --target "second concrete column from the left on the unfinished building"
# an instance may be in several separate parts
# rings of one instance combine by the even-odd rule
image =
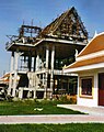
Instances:
[[[13,80],[13,92],[12,96],[15,97],[15,90],[16,90],[16,80],[18,80],[18,63],[19,63],[19,53],[14,53],[14,80]]]

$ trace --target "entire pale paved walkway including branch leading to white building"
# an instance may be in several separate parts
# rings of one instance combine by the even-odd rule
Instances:
[[[88,108],[74,105],[63,105],[67,109],[80,110],[89,114],[48,114],[48,116],[1,116],[0,124],[20,123],[104,123],[104,108]]]

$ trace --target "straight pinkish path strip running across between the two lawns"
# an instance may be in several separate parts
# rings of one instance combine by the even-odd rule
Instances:
[[[0,124],[22,124],[22,123],[104,123],[102,116],[2,116]]]

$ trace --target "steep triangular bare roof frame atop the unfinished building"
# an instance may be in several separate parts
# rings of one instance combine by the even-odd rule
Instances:
[[[88,40],[88,32],[77,10],[72,7],[47,25],[38,37],[45,36],[83,41]]]

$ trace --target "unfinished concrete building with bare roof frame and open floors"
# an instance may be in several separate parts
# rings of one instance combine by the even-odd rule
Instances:
[[[88,32],[71,8],[45,29],[22,25],[19,35],[9,36],[11,52],[8,94],[19,98],[53,98],[54,94],[76,94],[77,76],[62,67],[76,61],[86,45]]]

